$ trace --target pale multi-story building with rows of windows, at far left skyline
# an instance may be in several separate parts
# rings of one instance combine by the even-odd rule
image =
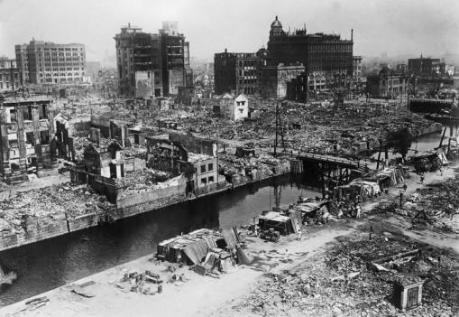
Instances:
[[[86,75],[85,45],[35,41],[15,46],[23,83],[66,84]]]

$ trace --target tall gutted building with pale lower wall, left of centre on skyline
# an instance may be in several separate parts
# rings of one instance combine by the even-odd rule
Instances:
[[[120,93],[125,97],[153,98],[177,95],[179,87],[193,85],[189,67],[189,42],[178,32],[178,23],[163,22],[157,34],[127,26],[115,35],[116,65]],[[146,93],[136,93],[137,84],[151,85]]]

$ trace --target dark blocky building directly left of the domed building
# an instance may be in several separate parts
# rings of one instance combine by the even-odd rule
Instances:
[[[214,55],[215,92],[258,95],[259,68],[266,61],[257,53],[225,52]]]

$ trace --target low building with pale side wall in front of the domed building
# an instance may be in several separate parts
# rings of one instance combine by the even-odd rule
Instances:
[[[287,83],[305,72],[302,64],[266,66],[260,69],[262,98],[284,98],[287,96]]]

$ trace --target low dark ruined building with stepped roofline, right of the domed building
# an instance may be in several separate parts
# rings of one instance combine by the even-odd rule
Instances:
[[[394,98],[406,94],[409,77],[396,71],[384,68],[377,75],[367,76],[366,90],[372,97]]]

